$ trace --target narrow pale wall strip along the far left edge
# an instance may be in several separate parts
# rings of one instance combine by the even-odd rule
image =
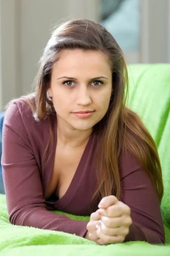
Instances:
[[[0,1],[0,92],[1,105],[17,96],[17,1]]]

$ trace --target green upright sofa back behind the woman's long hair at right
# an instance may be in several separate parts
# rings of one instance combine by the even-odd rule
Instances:
[[[130,65],[128,73],[127,105],[142,118],[156,143],[164,183],[161,212],[170,224],[170,64]]]

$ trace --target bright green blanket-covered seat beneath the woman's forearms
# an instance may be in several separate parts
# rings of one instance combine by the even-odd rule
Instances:
[[[53,211],[57,214],[63,212]],[[88,216],[66,214],[69,218],[89,220]],[[166,227],[166,226],[165,226]],[[166,240],[170,230],[166,227]],[[8,221],[6,197],[0,194],[0,256],[170,256],[170,245],[151,245],[146,242],[98,245],[82,237],[64,232],[41,230],[34,227],[12,225]]]

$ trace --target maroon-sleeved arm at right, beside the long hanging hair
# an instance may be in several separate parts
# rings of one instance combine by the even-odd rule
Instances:
[[[124,155],[120,176],[120,201],[130,207],[133,221],[125,242],[164,243],[164,226],[156,189],[140,163],[131,154]]]

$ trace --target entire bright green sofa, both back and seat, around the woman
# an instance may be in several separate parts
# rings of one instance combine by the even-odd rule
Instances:
[[[127,105],[141,116],[159,151],[164,182],[161,213],[166,244],[135,241],[100,246],[68,233],[14,226],[8,221],[5,195],[0,194],[0,255],[170,256],[170,64],[130,65],[128,73],[130,90]],[[54,213],[63,214],[59,211]],[[89,219],[89,216],[64,214],[72,219]]]

